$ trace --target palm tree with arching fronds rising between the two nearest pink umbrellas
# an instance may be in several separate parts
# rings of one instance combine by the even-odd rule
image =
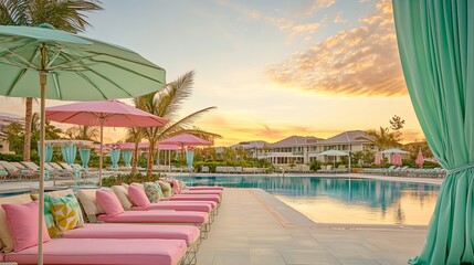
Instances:
[[[191,96],[193,78],[194,72],[190,71],[175,82],[168,84],[164,89],[135,98],[135,105],[137,108],[169,120],[166,126],[143,129],[143,135],[149,141],[147,176],[151,176],[154,149],[159,140],[185,132],[196,135],[207,140],[213,140],[214,138],[221,137],[220,135],[192,127],[192,124],[198,118],[215,107],[200,109],[175,121],[177,119],[178,112],[181,108],[181,104],[185,99]],[[139,140],[140,139],[136,138],[136,142]],[[136,144],[136,146],[138,144]]]

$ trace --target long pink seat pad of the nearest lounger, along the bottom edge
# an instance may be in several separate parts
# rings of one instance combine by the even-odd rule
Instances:
[[[43,259],[45,265],[176,265],[186,251],[181,240],[55,239],[43,244]],[[36,264],[38,246],[4,253],[3,262]]]

